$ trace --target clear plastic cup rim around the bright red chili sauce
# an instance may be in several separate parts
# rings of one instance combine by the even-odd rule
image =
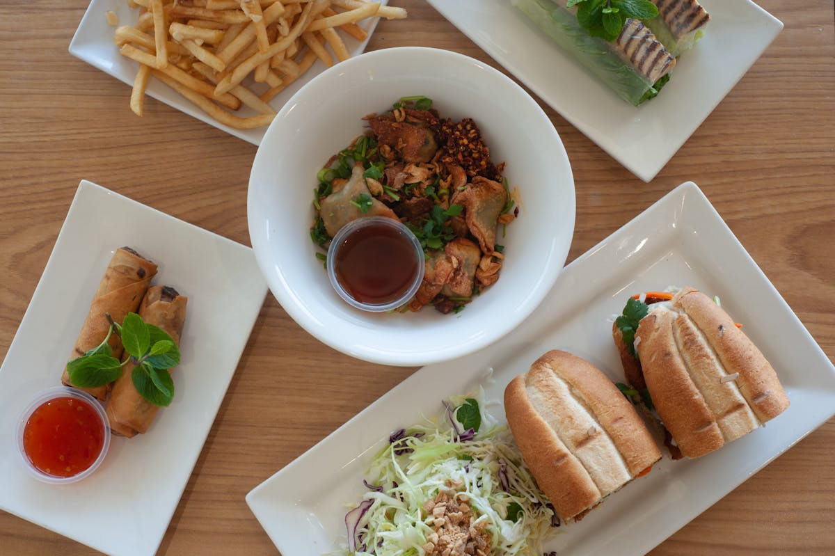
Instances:
[[[44,403],[54,400],[59,397],[73,397],[77,400],[82,400],[83,402],[88,402],[90,406],[94,408],[96,413],[99,415],[99,418],[102,423],[102,427],[104,427],[104,440],[102,442],[102,449],[99,451],[99,456],[96,457],[93,463],[90,464],[89,468],[84,469],[80,473],[76,473],[71,477],[59,477],[58,475],[50,475],[48,473],[44,473],[40,469],[36,468],[33,462],[29,459],[26,455],[26,450],[23,447],[23,432],[26,430],[26,425],[29,421],[29,417],[32,417],[33,412],[38,409],[38,407],[43,406]],[[18,455],[20,456],[20,461],[23,463],[23,467],[25,467],[29,474],[34,478],[37,478],[39,481],[43,483],[49,484],[69,484],[69,483],[77,483],[78,481],[82,480],[83,478],[89,477],[91,474],[96,471],[96,469],[101,466],[102,462],[104,462],[104,457],[107,456],[107,452],[110,447],[110,437],[112,433],[110,432],[110,420],[107,416],[107,412],[104,410],[104,406],[96,399],[94,396],[90,395],[83,390],[80,390],[75,387],[68,387],[68,386],[56,386],[56,387],[49,387],[46,390],[42,390],[38,392],[30,402],[23,407],[23,410],[19,413],[18,416],[18,425],[17,425],[17,434],[15,435],[16,445],[18,447]]]

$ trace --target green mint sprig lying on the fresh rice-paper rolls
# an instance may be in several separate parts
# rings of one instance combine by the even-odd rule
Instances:
[[[592,37],[612,42],[629,18],[646,21],[658,16],[650,0],[568,0],[566,8],[577,6],[577,21]]]

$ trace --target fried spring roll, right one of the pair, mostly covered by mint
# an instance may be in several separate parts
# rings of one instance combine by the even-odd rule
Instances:
[[[139,316],[147,324],[159,326],[177,346],[185,322],[185,305],[188,298],[169,286],[152,286],[139,306]],[[114,382],[113,391],[105,407],[110,419],[110,429],[124,437],[144,434],[154,422],[159,407],[145,400],[134,387],[134,364],[127,363],[122,376]],[[168,372],[173,371],[169,369]]]

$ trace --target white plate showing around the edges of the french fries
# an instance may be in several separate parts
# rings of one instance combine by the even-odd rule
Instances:
[[[388,0],[379,0],[383,5],[388,3]],[[87,12],[78,24],[78,29],[73,35],[73,40],[69,43],[69,53],[76,58],[83,60],[86,63],[99,68],[104,73],[108,73],[114,78],[119,79],[123,83],[133,85],[136,72],[139,69],[139,64],[124,58],[119,54],[119,48],[113,43],[114,27],[110,27],[107,20],[104,18],[104,13],[112,11],[119,17],[119,25],[133,25],[139,18],[139,10],[131,9],[124,0],[92,0],[90,2]],[[358,23],[360,27],[365,29],[368,33],[368,38],[377,27],[377,18],[367,19]],[[368,43],[368,38],[365,41],[357,41],[344,33],[342,38],[348,48],[348,53],[352,56],[362,53]],[[291,83],[281,94],[276,95],[270,101],[270,105],[276,109],[281,109],[287,99],[296,93],[302,85],[307,83],[313,76],[321,73],[325,69],[325,64],[317,61],[313,64],[307,73],[301,78],[298,78],[294,83]],[[245,83],[249,83],[248,81]],[[255,83],[258,85],[258,83]],[[261,92],[261,88],[253,87],[253,90]],[[194,104],[181,97],[180,94],[175,93],[171,88],[168,88],[163,83],[160,83],[154,78],[151,78],[148,83],[148,94],[154,99],[159,100],[175,109],[185,112],[190,116],[200,119],[215,128],[223,129],[226,133],[235,135],[240,139],[250,142],[251,144],[261,144],[261,139],[266,132],[266,126],[258,129],[235,129],[230,128],[224,124],[220,124],[215,119],[212,119],[209,114],[205,114],[198,109]],[[130,90],[124,90],[124,109],[129,110]],[[242,107],[236,114],[240,116],[254,116],[256,112],[247,107]]]

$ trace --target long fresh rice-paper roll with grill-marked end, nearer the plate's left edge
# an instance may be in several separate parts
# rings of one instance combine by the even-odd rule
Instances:
[[[655,35],[636,19],[627,19],[620,36],[608,43],[590,36],[565,0],[514,0],[514,4],[554,43],[622,99],[637,106],[651,99],[676,65]]]

